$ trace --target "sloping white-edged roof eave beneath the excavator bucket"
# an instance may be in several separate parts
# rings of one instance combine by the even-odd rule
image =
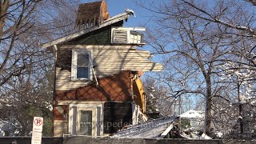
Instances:
[[[125,20],[131,14],[134,14],[134,13],[132,11],[126,11],[122,14],[118,14],[118,15],[116,15],[112,18],[109,18],[106,21],[102,22],[102,24],[100,26],[94,26],[90,29],[80,30],[80,31],[78,31],[74,34],[70,34],[70,35],[67,35],[65,37],[55,39],[54,41],[51,41],[51,42],[46,42],[46,43],[42,44],[42,48],[47,48],[47,47],[54,46],[54,45],[62,43],[62,42],[70,41],[71,39],[78,38],[79,36],[81,36],[83,34],[90,33],[91,31],[101,29],[102,27],[110,26],[111,24],[114,24],[116,22],[120,22],[122,20]]]

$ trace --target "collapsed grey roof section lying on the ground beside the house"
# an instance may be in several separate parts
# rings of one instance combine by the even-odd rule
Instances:
[[[125,130],[118,131],[114,137],[161,138],[172,129],[172,125],[177,118],[178,117],[163,117],[139,125],[130,126]]]

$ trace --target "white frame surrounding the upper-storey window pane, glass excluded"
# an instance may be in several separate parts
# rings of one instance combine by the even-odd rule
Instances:
[[[89,78],[77,78],[77,61],[78,61],[78,54],[89,54]],[[92,80],[92,62],[93,62],[93,50],[72,50],[72,63],[71,63],[71,80]]]

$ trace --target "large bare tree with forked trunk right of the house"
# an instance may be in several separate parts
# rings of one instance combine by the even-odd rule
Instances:
[[[207,6],[204,2],[199,4],[204,8]],[[179,75],[163,77],[162,81],[175,83],[177,80],[186,81],[185,88],[175,86],[179,90],[172,90],[173,95],[194,94],[205,97],[205,132],[210,134],[213,98],[218,97],[229,102],[229,99],[222,95],[224,89],[218,83],[218,66],[234,60],[237,55],[234,52],[238,50],[233,50],[232,46],[241,42],[241,38],[246,33],[249,34],[250,30],[245,30],[246,33],[234,37],[236,29],[231,29],[221,22],[211,22],[202,18],[207,14],[202,14],[201,10],[192,7],[186,1],[166,2],[161,6],[146,7],[146,9],[156,15],[154,18],[156,26],[154,28],[152,26],[148,34],[150,45],[154,48],[155,54],[165,54],[169,58],[166,64],[172,66],[174,71],[172,73]],[[211,10],[216,13],[225,11],[225,7],[222,9],[220,1],[213,4]]]

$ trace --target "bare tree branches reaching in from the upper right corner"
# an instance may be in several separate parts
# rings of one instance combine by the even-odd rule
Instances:
[[[233,30],[228,30],[226,33],[234,34],[233,37],[240,37],[240,41],[246,39],[251,40],[252,44],[247,47],[246,53],[243,56],[248,61],[247,64],[256,66],[255,62],[255,44],[254,39],[256,35],[255,30],[255,16],[254,16],[254,0],[242,1],[222,1],[214,2],[213,5],[218,7],[211,7],[203,5],[203,2],[178,1],[178,4],[186,7],[184,13],[186,16],[200,18],[206,22],[217,23],[226,26]],[[238,39],[236,39],[238,41]],[[237,49],[237,52],[240,49]],[[238,62],[239,63],[239,62]]]

